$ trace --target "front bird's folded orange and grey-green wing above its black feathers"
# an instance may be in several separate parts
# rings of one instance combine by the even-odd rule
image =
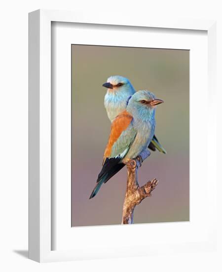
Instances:
[[[113,120],[110,138],[104,153],[104,162],[107,158],[122,159],[125,157],[136,136],[132,120],[132,115],[126,110],[117,115]]]

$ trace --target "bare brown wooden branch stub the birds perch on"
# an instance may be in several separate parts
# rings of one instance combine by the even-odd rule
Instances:
[[[127,186],[123,204],[122,224],[133,224],[133,213],[136,205],[143,199],[151,196],[151,191],[155,189],[158,181],[153,179],[143,186],[138,184],[138,167],[150,155],[148,150],[143,151],[140,156],[134,160],[128,160],[127,167]]]

